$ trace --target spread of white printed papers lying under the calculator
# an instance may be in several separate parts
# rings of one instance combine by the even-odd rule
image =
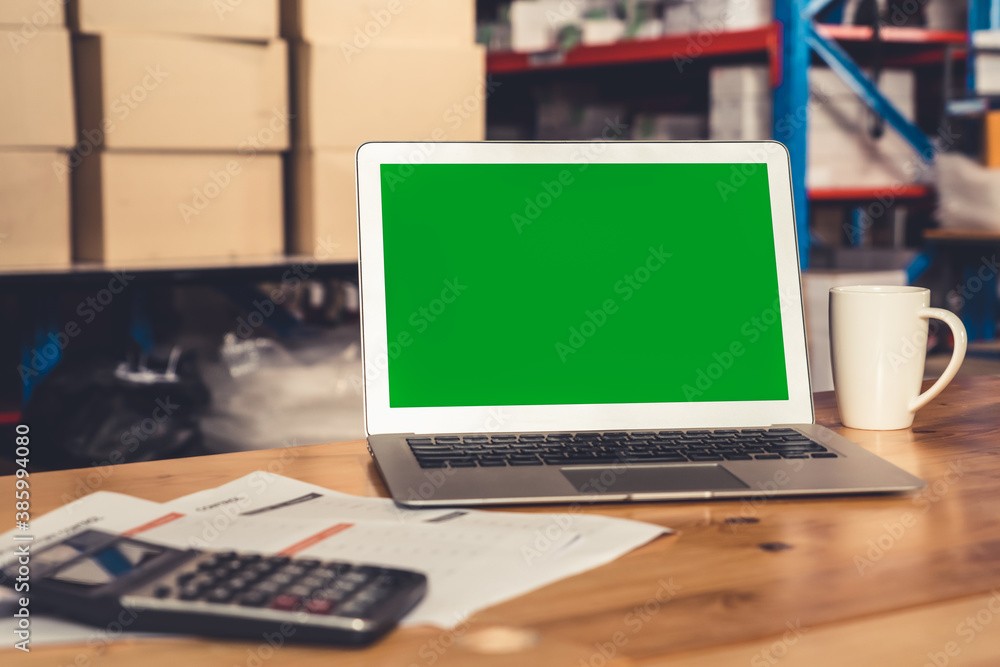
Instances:
[[[443,628],[670,532],[578,512],[412,510],[262,471],[167,503],[94,493],[39,517],[32,529],[36,550],[98,529],[179,549],[283,553],[418,570],[427,575],[429,591],[403,624]],[[0,538],[0,563],[9,557],[12,535]],[[3,595],[13,596],[9,589],[0,591],[0,604]],[[51,627],[51,636],[40,631],[33,640],[95,636],[93,628],[71,623]]]

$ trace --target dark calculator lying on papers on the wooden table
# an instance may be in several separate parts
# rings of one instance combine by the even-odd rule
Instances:
[[[13,586],[17,561],[5,574]],[[40,611],[129,630],[265,641],[368,644],[424,596],[410,570],[179,550],[88,530],[31,557]],[[274,638],[276,640],[276,638]]]

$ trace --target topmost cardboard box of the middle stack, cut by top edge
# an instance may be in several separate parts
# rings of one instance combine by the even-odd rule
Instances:
[[[267,41],[278,0],[69,0],[70,26],[88,34],[166,32]]]

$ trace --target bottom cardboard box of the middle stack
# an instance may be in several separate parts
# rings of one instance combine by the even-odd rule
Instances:
[[[274,257],[282,184],[279,155],[93,153],[73,179],[76,258]]]

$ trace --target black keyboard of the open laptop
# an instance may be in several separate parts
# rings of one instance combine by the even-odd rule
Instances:
[[[835,459],[790,428],[439,435],[407,438],[421,468]]]

